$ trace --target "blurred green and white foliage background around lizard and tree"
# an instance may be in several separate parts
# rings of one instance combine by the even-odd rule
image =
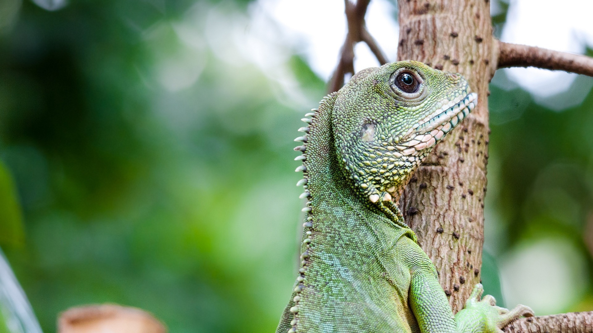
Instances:
[[[502,40],[590,53],[590,1],[491,3]],[[396,18],[371,2],[391,60]],[[0,1],[0,246],[44,331],[116,302],[171,332],[272,332],[297,265],[292,139],[344,36],[341,0]],[[492,81],[482,271],[506,306],[593,310],[592,87]]]

